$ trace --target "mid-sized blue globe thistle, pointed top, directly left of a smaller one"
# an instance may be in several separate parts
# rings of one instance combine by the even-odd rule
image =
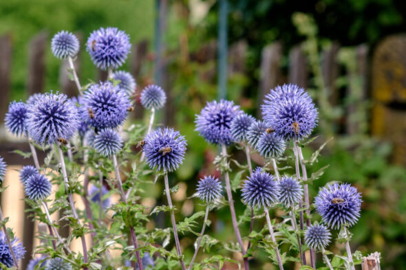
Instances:
[[[253,171],[242,187],[242,199],[250,207],[270,207],[277,202],[278,197],[277,182],[260,167]]]

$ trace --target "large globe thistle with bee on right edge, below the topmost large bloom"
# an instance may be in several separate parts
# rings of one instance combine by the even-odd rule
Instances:
[[[116,128],[124,122],[129,109],[127,94],[111,82],[100,82],[85,91],[87,120],[95,128]]]

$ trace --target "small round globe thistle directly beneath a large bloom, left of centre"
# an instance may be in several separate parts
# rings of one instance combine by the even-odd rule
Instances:
[[[122,139],[112,128],[103,128],[94,135],[93,147],[105,157],[116,154],[122,147]]]

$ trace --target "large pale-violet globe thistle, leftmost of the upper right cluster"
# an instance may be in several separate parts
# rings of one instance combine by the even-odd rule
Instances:
[[[207,102],[196,115],[196,131],[211,144],[231,144],[231,122],[240,113],[239,106],[228,100]]]

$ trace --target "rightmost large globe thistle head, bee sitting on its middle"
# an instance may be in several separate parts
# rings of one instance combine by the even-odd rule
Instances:
[[[360,216],[361,193],[348,183],[328,185],[319,191],[315,202],[323,222],[332,229],[352,226]]]

